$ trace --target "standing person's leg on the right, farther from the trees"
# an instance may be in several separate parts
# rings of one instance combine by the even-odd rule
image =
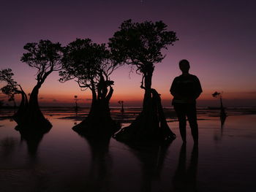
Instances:
[[[197,126],[197,110],[195,104],[187,105],[187,118],[189,120],[189,126],[191,128],[191,134],[194,142],[198,142],[198,126]]]

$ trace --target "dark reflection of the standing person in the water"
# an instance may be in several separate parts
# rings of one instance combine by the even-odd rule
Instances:
[[[194,145],[187,168],[187,146],[181,146],[178,167],[173,177],[174,191],[197,191],[198,145]]]

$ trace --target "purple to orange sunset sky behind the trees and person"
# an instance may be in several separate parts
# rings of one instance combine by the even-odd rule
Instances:
[[[178,61],[187,58],[191,74],[203,87],[198,105],[219,104],[211,96],[223,91],[227,106],[256,106],[256,3],[230,0],[94,0],[94,1],[5,1],[0,6],[0,69],[11,68],[15,80],[30,93],[36,69],[20,62],[27,42],[50,39],[62,45],[76,38],[108,43],[121,22],[162,20],[176,31],[179,41],[164,50],[166,57],[156,64],[153,88],[170,107],[169,89],[180,74]],[[81,92],[73,82],[60,83],[59,74],[50,74],[39,91],[39,103],[72,106],[78,95],[80,104],[89,106],[90,91]],[[127,106],[141,105],[141,76],[131,74],[129,66],[116,70],[111,105],[124,100]],[[1,85],[4,85],[1,83]],[[6,98],[1,94],[0,99]]]

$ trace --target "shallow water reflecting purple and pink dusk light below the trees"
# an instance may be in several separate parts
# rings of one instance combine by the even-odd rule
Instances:
[[[256,115],[230,115],[221,127],[201,112],[198,148],[189,127],[182,147],[178,122],[169,119],[176,140],[135,149],[80,137],[71,129],[79,121],[64,118],[71,112],[46,114],[53,128],[34,141],[21,139],[14,121],[0,121],[1,192],[255,190]]]

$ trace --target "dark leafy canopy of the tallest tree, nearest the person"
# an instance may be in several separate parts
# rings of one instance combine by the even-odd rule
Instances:
[[[162,21],[132,23],[132,20],[125,20],[109,39],[109,47],[116,61],[137,66],[138,72],[145,73],[148,64],[157,64],[165,58],[162,48],[167,49],[167,45],[177,40],[176,33],[167,31]]]

